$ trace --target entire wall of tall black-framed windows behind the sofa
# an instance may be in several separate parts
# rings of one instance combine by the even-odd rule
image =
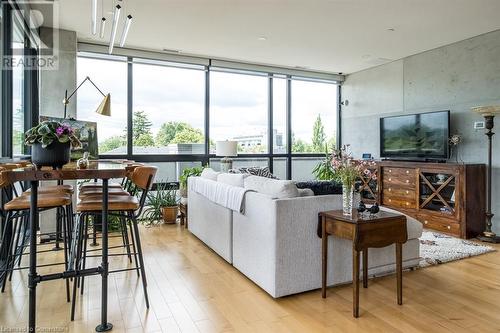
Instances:
[[[236,140],[233,167],[269,166],[281,179],[307,180],[336,144],[335,82],[170,59],[78,57],[78,81],[89,76],[111,93],[111,117],[94,112],[102,97],[92,85],[77,94],[77,118],[98,124],[101,156],[152,163],[161,180],[176,181],[190,165],[219,169],[216,142]]]

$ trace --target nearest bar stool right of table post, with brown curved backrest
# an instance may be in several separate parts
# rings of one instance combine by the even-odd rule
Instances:
[[[123,272],[136,270],[138,275],[142,278],[142,286],[144,291],[144,297],[146,300],[146,307],[149,308],[149,298],[147,293],[147,280],[146,271],[144,267],[144,260],[142,255],[141,239],[139,235],[139,228],[137,226],[137,218],[140,216],[144,204],[146,202],[147,194],[151,189],[154,178],[158,168],[152,166],[140,166],[136,167],[132,174],[130,175],[130,181],[133,183],[134,188],[141,192],[140,199],[137,199],[135,195],[109,195],[108,199],[108,212],[112,216],[118,216],[123,220],[127,220],[130,226],[132,246],[134,250],[135,267],[118,269],[114,272]],[[88,236],[88,218],[96,215],[102,214],[102,194],[84,196],[81,201],[77,204],[77,212],[80,214],[77,226],[75,227],[76,234],[76,258],[75,258],[75,270],[85,269],[86,258],[91,257],[87,254],[87,236]],[[126,228],[126,226],[125,226]],[[111,248],[111,247],[110,247]],[[114,248],[114,247],[113,247]],[[127,254],[115,254],[115,255],[127,255]],[[77,278],[77,281],[73,284],[73,298],[71,305],[71,320],[75,317],[75,305],[76,305],[76,289],[79,285],[79,280],[81,279],[81,292],[83,293],[84,287],[84,277]]]

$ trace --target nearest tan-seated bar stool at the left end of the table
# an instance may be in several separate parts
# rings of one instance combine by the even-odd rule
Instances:
[[[5,170],[5,169],[4,169]],[[0,175],[1,175],[0,170]],[[14,184],[7,183],[3,177],[0,177],[0,188],[5,192],[17,194]],[[40,211],[50,209],[57,209],[60,212],[59,219],[62,224],[62,241],[64,244],[64,263],[53,263],[39,265],[41,266],[54,266],[65,265],[68,268],[69,258],[69,244],[71,229],[73,227],[73,212],[72,212],[72,188],[68,186],[47,187],[38,196],[38,208]],[[5,227],[2,233],[1,253],[6,253],[7,259],[3,265],[1,272],[4,273],[2,281],[2,292],[5,290],[7,281],[7,274],[9,280],[12,278],[12,272],[17,269],[26,269],[27,267],[20,267],[21,258],[24,255],[24,249],[28,246],[29,240],[29,212],[30,212],[30,197],[29,191],[23,192],[21,195],[11,197],[10,201],[2,207],[2,213],[5,219]],[[59,223],[59,221],[58,221]],[[42,235],[42,234],[40,234]],[[59,237],[60,235],[56,235]],[[48,252],[51,250],[37,251],[37,253]],[[14,268],[16,262],[18,268]],[[66,280],[66,298],[69,302],[69,281]]]

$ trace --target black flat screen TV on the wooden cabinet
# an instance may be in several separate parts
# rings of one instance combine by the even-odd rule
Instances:
[[[450,111],[380,118],[380,156],[447,159]]]

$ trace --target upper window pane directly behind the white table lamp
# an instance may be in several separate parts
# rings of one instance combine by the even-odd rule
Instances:
[[[268,152],[269,79],[235,73],[210,73],[210,151],[215,142],[238,141],[238,153]]]

